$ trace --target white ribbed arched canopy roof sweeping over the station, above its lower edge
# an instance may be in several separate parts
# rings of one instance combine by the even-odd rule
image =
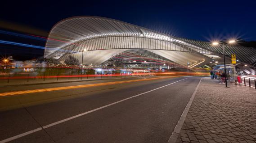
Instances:
[[[90,45],[90,43],[95,44]],[[171,46],[175,46],[175,49]],[[122,21],[103,17],[71,17],[58,22],[51,29],[45,45],[45,57],[79,52],[83,48],[87,50],[121,48],[176,50],[178,47],[184,51],[210,54],[209,51],[189,42]]]

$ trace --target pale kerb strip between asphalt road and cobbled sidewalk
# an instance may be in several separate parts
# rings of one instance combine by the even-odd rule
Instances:
[[[186,118],[187,114],[189,113],[189,108],[192,105],[192,102],[194,100],[194,97],[195,97],[196,93],[198,92],[198,88],[199,88],[199,85],[201,83],[201,80],[202,80],[202,78],[198,82],[198,86],[196,87],[196,89],[195,89],[194,93],[192,94],[191,98],[189,99],[189,102],[186,105],[183,113],[181,114],[180,120],[178,121],[177,125],[175,126],[174,131],[172,132],[171,137],[168,140],[168,143],[176,143],[176,140],[177,140],[177,138],[180,134],[181,127],[182,127],[182,125],[185,121],[185,118]]]

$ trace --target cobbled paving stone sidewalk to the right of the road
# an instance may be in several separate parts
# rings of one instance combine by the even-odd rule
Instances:
[[[256,143],[256,89],[202,78],[176,143]]]

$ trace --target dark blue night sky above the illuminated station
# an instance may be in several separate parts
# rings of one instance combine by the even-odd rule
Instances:
[[[256,0],[8,0],[1,4],[0,30],[47,37],[58,21],[72,16],[100,16],[125,21],[195,40],[242,38],[256,40]],[[0,40],[45,46],[0,33]],[[0,44],[0,56],[32,59],[42,49]]]

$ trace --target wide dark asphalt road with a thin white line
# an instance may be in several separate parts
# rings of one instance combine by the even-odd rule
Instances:
[[[0,97],[19,104],[0,112],[0,143],[167,143],[200,78],[86,84],[126,80],[136,81]],[[84,84],[7,87],[1,93]]]

